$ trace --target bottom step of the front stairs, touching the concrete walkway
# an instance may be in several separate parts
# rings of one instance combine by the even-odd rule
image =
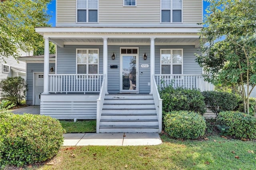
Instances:
[[[100,133],[159,133],[158,126],[100,126]]]

